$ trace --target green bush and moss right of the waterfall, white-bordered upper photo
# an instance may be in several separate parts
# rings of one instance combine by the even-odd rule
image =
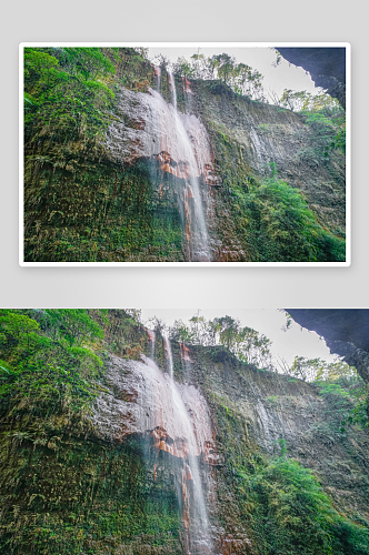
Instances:
[[[219,229],[219,236],[238,241],[247,260],[260,262],[336,262],[346,260],[342,233],[335,235],[318,222],[303,194],[279,180],[258,178],[242,161],[235,141],[220,130],[213,133],[221,163],[223,192],[216,208],[231,223]],[[275,164],[271,164],[275,168]]]

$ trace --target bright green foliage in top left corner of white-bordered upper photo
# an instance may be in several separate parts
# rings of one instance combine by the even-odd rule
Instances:
[[[113,92],[116,68],[97,48],[24,49],[26,140],[63,143],[100,135]]]

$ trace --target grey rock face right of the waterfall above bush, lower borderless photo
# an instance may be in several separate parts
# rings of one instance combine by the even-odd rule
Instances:
[[[210,362],[199,354],[191,352],[192,380],[209,389],[212,398],[232,415],[232,436],[223,435],[222,442],[232,441],[233,448],[248,445],[247,451],[258,445],[260,452],[279,454],[279,441],[286,441],[289,456],[313,471],[335,506],[369,516],[369,442],[365,431],[341,434],[330,401],[308,383],[228,357],[215,362],[212,356]],[[221,473],[217,472],[221,490]]]

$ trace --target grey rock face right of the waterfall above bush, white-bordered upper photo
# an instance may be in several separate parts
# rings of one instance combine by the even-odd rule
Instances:
[[[302,191],[319,222],[333,233],[337,230],[345,233],[342,160],[331,158],[328,165],[323,163],[315,151],[311,129],[301,117],[235,94],[229,98],[199,82],[193,84],[193,90],[196,113],[201,114],[208,129],[221,183],[230,188],[243,184],[247,191],[250,176],[268,178],[270,164],[276,164],[278,178]],[[219,226],[226,229],[227,203],[221,186],[215,188],[213,198],[221,220]],[[221,215],[222,206],[225,215]],[[232,235],[235,242],[236,233]]]

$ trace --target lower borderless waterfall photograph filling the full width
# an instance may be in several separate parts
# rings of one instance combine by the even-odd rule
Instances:
[[[369,555],[369,310],[0,310],[0,553]]]

